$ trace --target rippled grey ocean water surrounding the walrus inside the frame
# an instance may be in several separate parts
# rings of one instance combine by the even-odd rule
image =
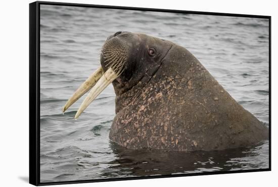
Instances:
[[[41,5],[40,181],[70,181],[268,168],[269,146],[191,153],[133,151],[109,141],[108,86],[74,120],[84,97],[62,107],[100,66],[106,38],[142,32],[191,51],[244,108],[269,123],[268,20]]]

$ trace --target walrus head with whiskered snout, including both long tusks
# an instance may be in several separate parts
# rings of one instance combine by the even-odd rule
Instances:
[[[63,112],[90,88],[75,118],[110,83],[118,96],[138,84],[144,76],[153,76],[172,45],[170,41],[141,33],[119,31],[109,36],[102,48],[101,67],[76,90]]]

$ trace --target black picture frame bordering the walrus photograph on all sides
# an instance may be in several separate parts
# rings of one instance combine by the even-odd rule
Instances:
[[[40,171],[40,139],[39,139],[40,138],[40,5],[77,6],[77,7],[87,7],[87,8],[138,10],[138,11],[154,11],[154,12],[168,12],[168,13],[186,13],[186,14],[202,14],[202,15],[215,15],[215,16],[268,19],[269,20],[269,168],[41,183],[40,172],[39,172]],[[75,4],[75,3],[57,3],[57,2],[34,2],[29,4],[29,183],[33,185],[52,185],[52,184],[132,180],[132,179],[145,179],[145,178],[162,178],[162,177],[179,177],[179,176],[192,176],[192,175],[270,171],[271,170],[271,133],[270,132],[271,132],[271,16],[195,12],[195,11],[181,11],[181,10],[135,8],[135,7],[117,7],[117,6],[102,6],[102,5],[87,5],[87,4]]]

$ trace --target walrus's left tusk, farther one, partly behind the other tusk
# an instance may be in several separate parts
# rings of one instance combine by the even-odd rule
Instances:
[[[75,101],[77,101],[82,95],[84,95],[91,87],[93,87],[101,76],[104,74],[102,67],[99,67],[88,79],[81,84],[81,86],[74,92],[71,98],[67,101],[63,107],[63,112],[66,111]]]

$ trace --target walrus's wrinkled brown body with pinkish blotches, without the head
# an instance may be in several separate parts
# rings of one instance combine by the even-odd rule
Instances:
[[[129,149],[208,151],[255,145],[268,128],[173,44],[153,76],[116,96],[109,137]]]

